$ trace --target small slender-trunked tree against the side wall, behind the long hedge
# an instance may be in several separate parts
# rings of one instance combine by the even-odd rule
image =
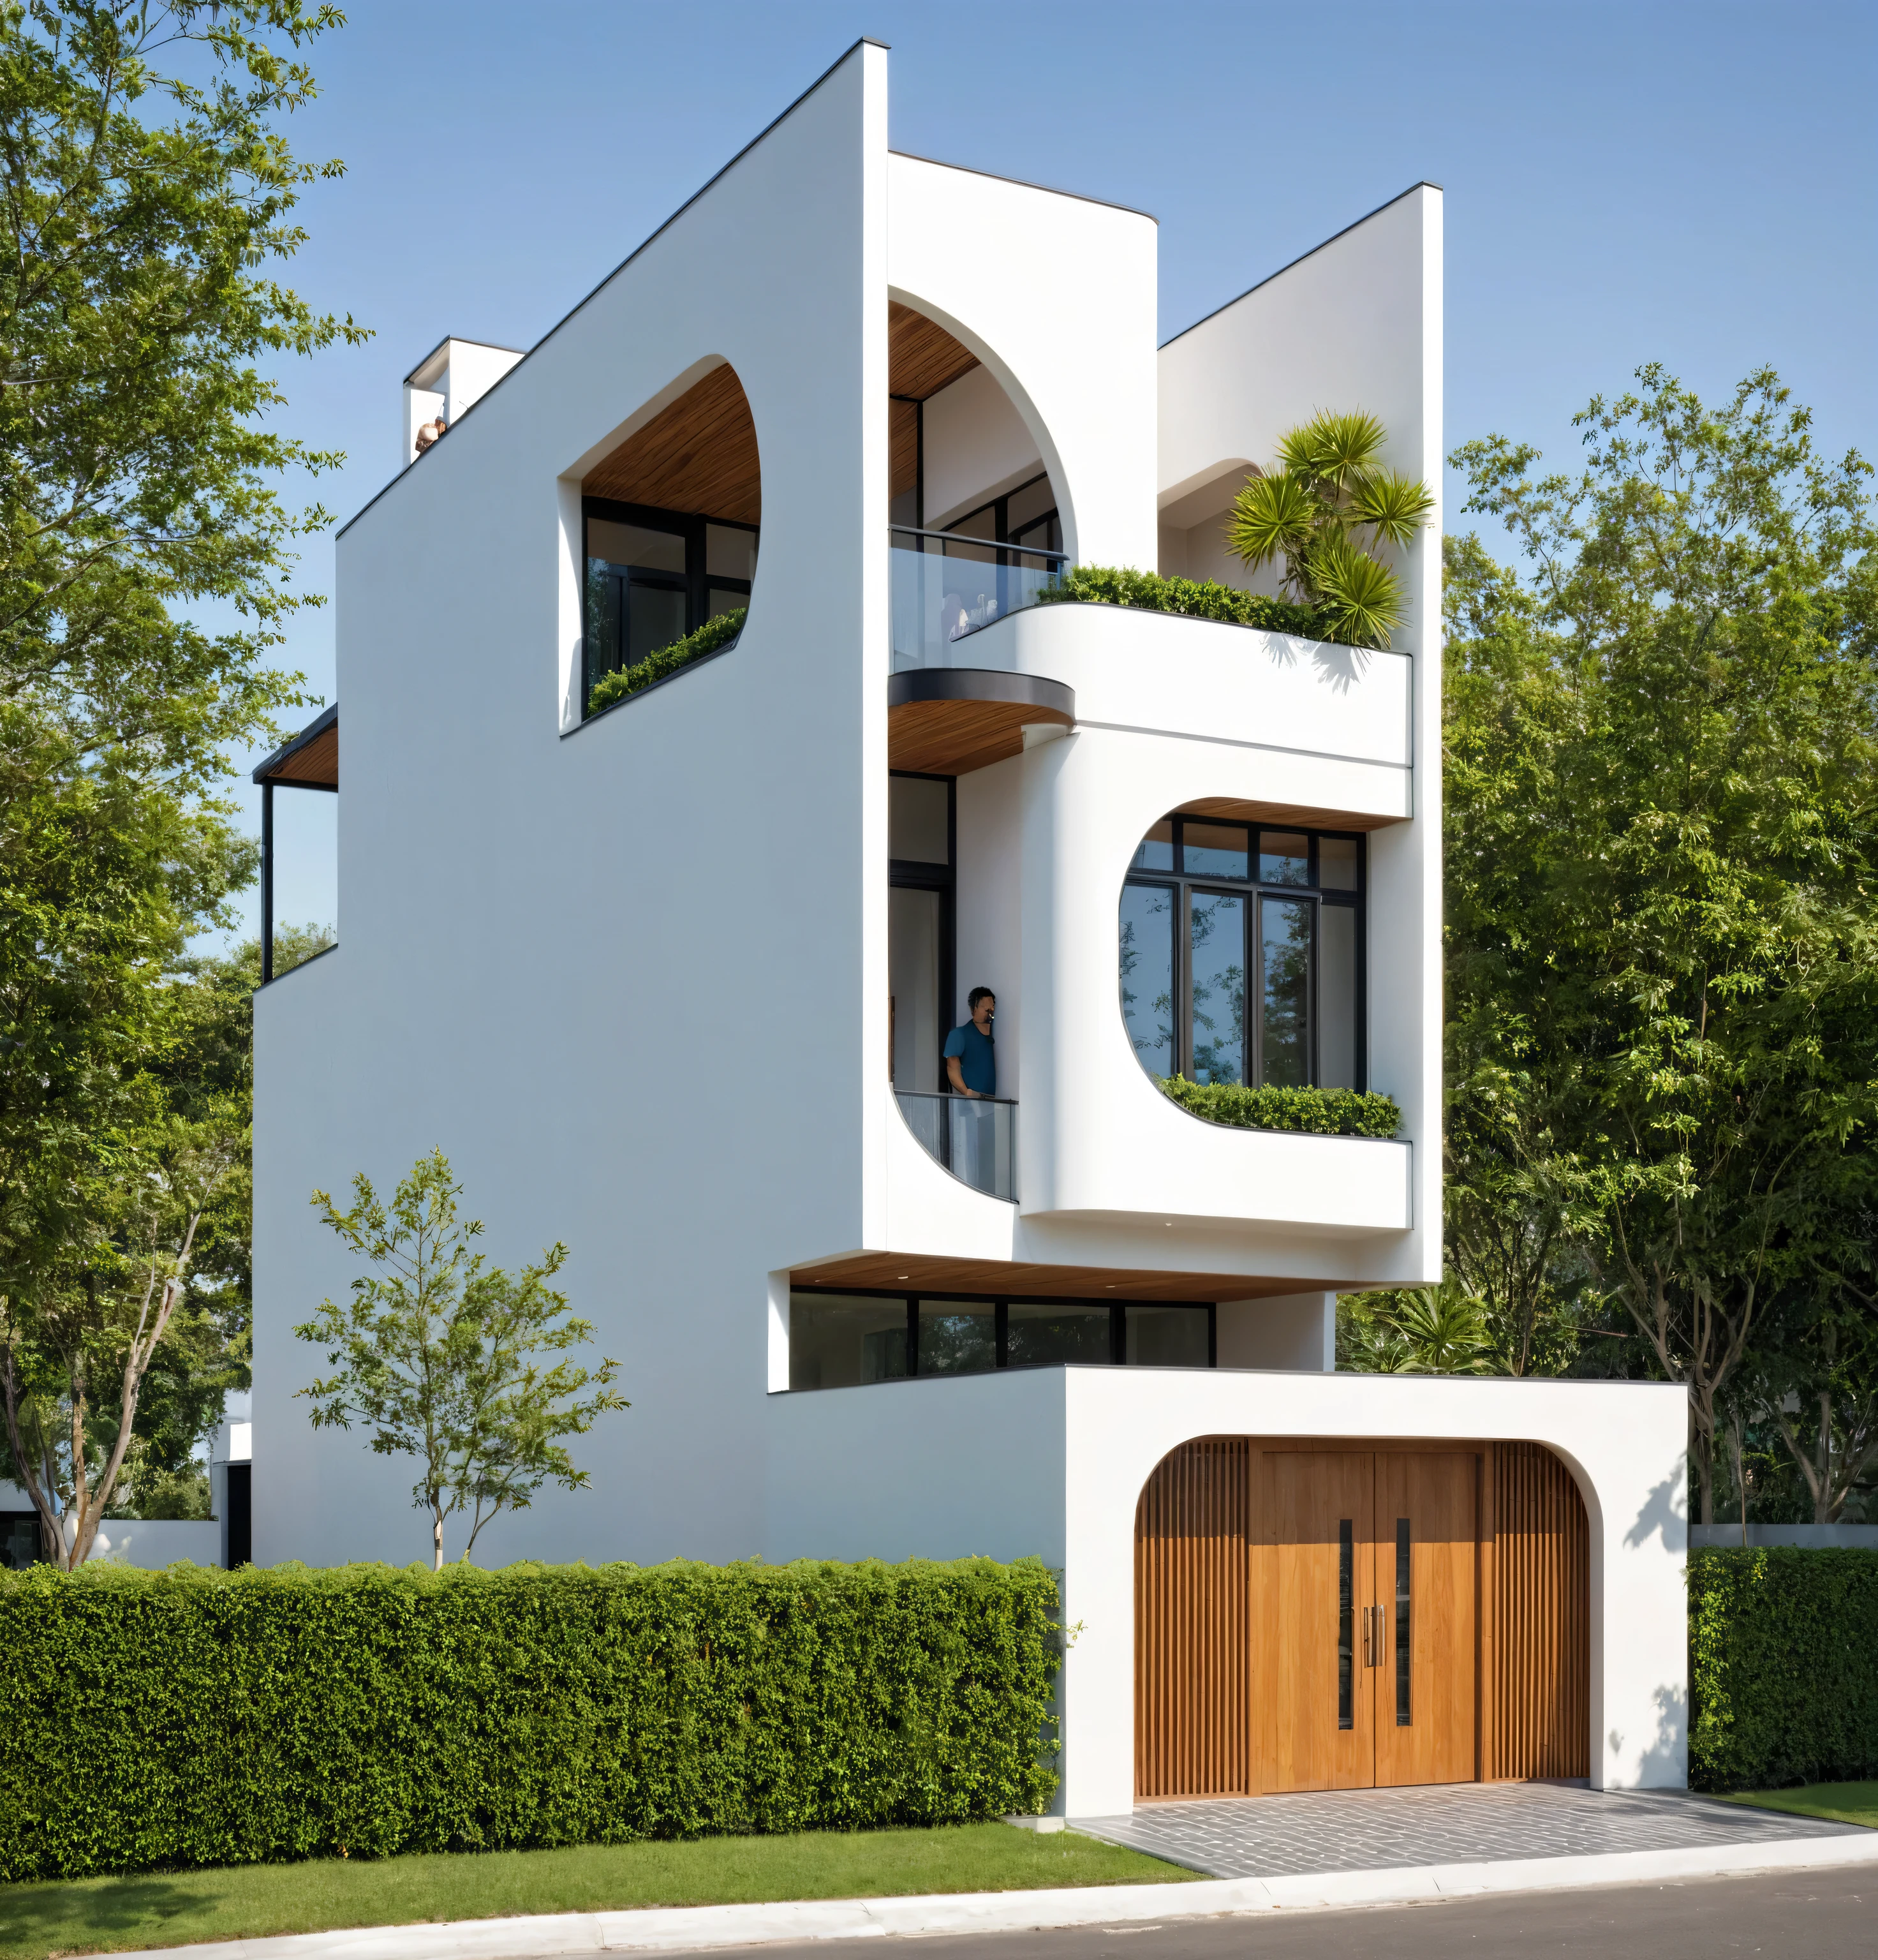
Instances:
[[[588,1472],[574,1468],[561,1439],[586,1435],[608,1409],[629,1407],[612,1388],[618,1362],[543,1368],[537,1360],[594,1333],[547,1286],[567,1247],[549,1247],[514,1278],[500,1266],[484,1270],[482,1254],[469,1249],[482,1221],[457,1223],[461,1190],[445,1154],[433,1151],[400,1180],[388,1209],[363,1172],[353,1178],[349,1211],[314,1192],[325,1223],[384,1276],[353,1280],[345,1307],[325,1299],[294,1329],[327,1348],[333,1370],[298,1392],[312,1403],[314,1429],[359,1421],[378,1454],[418,1458],[412,1503],[431,1513],[439,1572],[447,1517],[470,1515],[467,1558],[492,1517],[525,1511],[545,1482],[582,1490]]]

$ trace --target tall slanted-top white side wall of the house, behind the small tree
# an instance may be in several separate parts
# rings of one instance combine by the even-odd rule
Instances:
[[[433,1147],[494,1262],[572,1249],[633,1401],[576,1446],[590,1492],[478,1562],[761,1543],[766,1274],[884,1203],[884,61],[857,47],[339,539],[345,941],[255,1017],[263,1564],[423,1552],[412,1468],[308,1429],[290,1329],[355,1272],[308,1194]],[[763,457],[745,635],[563,739],[578,476],[717,361]]]

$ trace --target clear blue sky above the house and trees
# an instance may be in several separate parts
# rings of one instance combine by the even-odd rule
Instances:
[[[896,149],[1161,220],[1162,337],[1429,178],[1449,447],[1504,431],[1568,463],[1572,412],[1662,361],[1711,396],[1772,363],[1829,449],[1878,449],[1872,0],[351,14],[288,127],[347,165],[302,200],[290,278],[376,339],[280,376],[282,425],[347,451],[318,492],[339,517],[396,470],[423,353],[445,333],[531,345],[863,33],[894,51]],[[331,590],[329,535],[302,570]],[[331,608],[286,655],[331,698]],[[331,815],[276,800],[282,921],[339,917]]]

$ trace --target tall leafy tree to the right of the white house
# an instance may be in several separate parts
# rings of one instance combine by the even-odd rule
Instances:
[[[1531,1229],[1564,1207],[1690,1388],[1707,1521],[1768,1303],[1868,1260],[1835,1194],[1878,1117],[1878,555],[1870,466],[1770,370],[1721,410],[1639,382],[1576,417],[1576,478],[1453,459],[1531,566],[1474,559],[1449,710],[1458,1215],[1496,1176]]]

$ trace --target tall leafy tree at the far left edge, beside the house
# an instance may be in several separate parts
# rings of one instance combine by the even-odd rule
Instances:
[[[325,514],[272,484],[339,461],[267,427],[257,363],[361,337],[265,272],[339,171],[274,127],[337,20],[0,6],[0,1386],[73,1562],[245,1178],[245,1103],[182,1084],[186,945],[253,876],[227,755],[300,700],[267,655]],[[241,629],[200,631],[198,600]]]

